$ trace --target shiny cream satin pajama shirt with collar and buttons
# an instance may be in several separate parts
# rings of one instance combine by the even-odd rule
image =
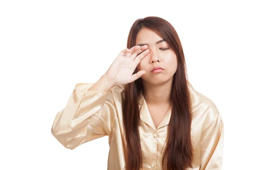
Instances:
[[[108,91],[87,91],[94,83],[76,84],[65,108],[58,112],[51,133],[64,147],[79,145],[109,136],[108,170],[123,170],[126,144],[122,125],[122,85]],[[220,170],[223,157],[224,125],[215,104],[189,84],[192,98],[193,168],[188,170]],[[156,128],[144,97],[140,100],[140,140],[143,170],[161,170],[161,150],[167,135],[171,111]],[[90,153],[89,153],[90,154]]]

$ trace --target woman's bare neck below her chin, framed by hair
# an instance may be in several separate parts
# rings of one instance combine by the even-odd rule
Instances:
[[[172,105],[172,78],[168,82],[164,82],[163,84],[151,84],[149,82],[143,81],[143,86],[143,96],[147,104],[157,106]]]

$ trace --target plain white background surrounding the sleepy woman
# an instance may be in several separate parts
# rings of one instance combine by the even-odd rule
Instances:
[[[148,16],[174,26],[189,82],[221,113],[223,170],[255,168],[255,8],[244,0],[0,1],[0,169],[107,169],[108,136],[69,150],[52,123],[76,83],[96,82],[134,21]]]

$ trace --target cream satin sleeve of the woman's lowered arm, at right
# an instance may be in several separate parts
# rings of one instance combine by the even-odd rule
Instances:
[[[224,124],[220,113],[209,114],[202,131],[200,170],[221,170],[224,146]],[[212,119],[213,117],[213,119]]]

